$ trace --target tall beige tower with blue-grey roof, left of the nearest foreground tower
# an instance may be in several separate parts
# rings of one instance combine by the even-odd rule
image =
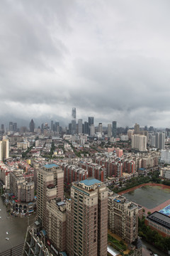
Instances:
[[[64,198],[64,174],[56,164],[37,169],[38,221],[47,230],[47,199]]]

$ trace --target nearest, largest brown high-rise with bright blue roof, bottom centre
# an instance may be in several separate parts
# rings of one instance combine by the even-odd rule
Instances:
[[[108,245],[108,191],[95,178],[73,183],[67,203],[69,256],[106,256]]]

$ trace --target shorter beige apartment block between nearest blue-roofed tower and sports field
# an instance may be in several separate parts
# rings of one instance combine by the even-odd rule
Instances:
[[[108,228],[131,244],[138,236],[138,206],[124,196],[108,196]]]

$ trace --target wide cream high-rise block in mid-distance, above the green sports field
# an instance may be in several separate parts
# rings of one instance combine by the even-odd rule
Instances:
[[[131,148],[138,151],[147,151],[147,137],[145,135],[132,135]]]

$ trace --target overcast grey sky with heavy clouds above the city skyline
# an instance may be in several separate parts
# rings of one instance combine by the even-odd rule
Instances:
[[[170,127],[169,0],[1,0],[5,119]],[[11,119],[11,120],[10,120]]]

